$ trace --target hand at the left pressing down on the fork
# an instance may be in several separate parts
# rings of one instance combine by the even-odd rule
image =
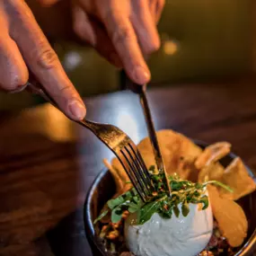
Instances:
[[[83,119],[84,102],[24,1],[0,1],[0,31],[0,88],[21,91],[29,67],[69,118]]]

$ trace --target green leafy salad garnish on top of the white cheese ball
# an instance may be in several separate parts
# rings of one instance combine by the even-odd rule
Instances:
[[[155,191],[148,202],[144,203],[137,194],[137,190],[132,188],[118,198],[110,199],[107,203],[109,209],[102,212],[101,216],[95,219],[94,224],[109,212],[112,223],[118,223],[122,219],[124,212],[136,213],[137,225],[145,224],[154,213],[158,213],[163,218],[171,218],[172,214],[176,217],[181,214],[182,216],[188,216],[190,213],[189,204],[202,204],[203,210],[208,207],[208,197],[206,195],[208,184],[214,184],[232,192],[229,187],[219,181],[207,181],[202,184],[194,183],[181,180],[177,174],[173,174],[169,177],[172,189],[171,197],[169,197],[165,192],[163,173],[155,174],[153,167],[149,169],[149,173],[154,182]]]

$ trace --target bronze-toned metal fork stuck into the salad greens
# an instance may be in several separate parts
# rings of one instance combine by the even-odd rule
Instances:
[[[27,89],[32,93],[40,95],[44,100],[51,103],[58,110],[57,102],[52,99],[49,93],[37,81],[29,82]],[[154,185],[147,171],[137,146],[126,133],[121,129],[110,125],[96,123],[87,119],[75,121],[84,128],[90,129],[110,150],[118,157],[130,181],[137,190],[139,197],[148,201],[152,197]]]

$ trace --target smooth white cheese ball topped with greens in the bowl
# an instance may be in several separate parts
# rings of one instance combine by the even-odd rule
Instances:
[[[144,225],[133,225],[136,215],[128,216],[125,238],[136,256],[196,256],[203,251],[213,231],[210,205],[205,210],[190,204],[190,213],[166,219],[155,213]],[[181,210],[181,205],[179,205]]]

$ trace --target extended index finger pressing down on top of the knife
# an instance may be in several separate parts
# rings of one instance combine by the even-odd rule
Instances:
[[[128,19],[127,8],[123,8],[123,2],[119,0],[102,0],[98,3],[102,22],[128,76],[137,84],[146,84],[150,80],[150,72],[139,48],[136,33]]]

